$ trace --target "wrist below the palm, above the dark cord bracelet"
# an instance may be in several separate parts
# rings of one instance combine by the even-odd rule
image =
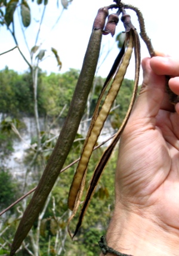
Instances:
[[[168,232],[146,216],[121,209],[115,209],[106,242],[116,251],[134,256],[179,255],[177,233]]]

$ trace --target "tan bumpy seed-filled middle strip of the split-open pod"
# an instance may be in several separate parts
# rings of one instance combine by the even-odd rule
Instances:
[[[132,55],[133,48],[133,36],[132,32],[127,33],[127,48],[122,58],[121,64],[119,66],[118,72],[115,75],[113,83],[109,89],[109,92],[104,100],[103,106],[97,116],[97,119],[94,123],[94,127],[92,127],[90,135],[88,137],[88,141],[85,144],[83,149],[81,160],[79,161],[78,168],[76,169],[75,176],[73,178],[73,183],[70,188],[69,193],[69,208],[73,209],[72,216],[75,215],[79,203],[81,201],[81,195],[84,190],[84,184],[82,184],[82,180],[86,175],[87,165],[90,160],[90,156],[92,150],[97,142],[98,136],[100,135],[101,129],[103,128],[104,122],[106,121],[107,116],[109,115],[110,109],[112,107],[113,101],[118,94],[119,88],[121,87],[122,81],[124,79],[124,75],[126,73],[126,69],[129,64],[129,60]],[[72,220],[72,218],[70,218]],[[68,223],[69,224],[69,223]]]

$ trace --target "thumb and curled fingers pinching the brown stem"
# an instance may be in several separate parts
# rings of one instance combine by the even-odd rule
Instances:
[[[144,58],[142,61],[143,85],[129,122],[155,125],[153,121],[160,109],[174,112],[174,105],[169,103],[165,91],[165,75],[175,76],[169,80],[169,87],[179,95],[179,60],[168,55],[159,55]],[[179,103],[175,106],[175,110],[179,113]]]

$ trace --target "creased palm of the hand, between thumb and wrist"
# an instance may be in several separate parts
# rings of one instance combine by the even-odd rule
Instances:
[[[133,116],[135,112],[133,113]],[[116,199],[179,229],[179,116],[131,116],[121,139]]]

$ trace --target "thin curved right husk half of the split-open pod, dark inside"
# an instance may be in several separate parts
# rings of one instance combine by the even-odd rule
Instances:
[[[110,159],[110,156],[112,155],[113,149],[115,148],[116,144],[119,141],[119,138],[121,137],[122,131],[125,128],[125,125],[128,121],[129,115],[131,113],[132,107],[134,106],[135,98],[137,95],[138,90],[138,80],[140,75],[140,40],[138,37],[138,33],[136,30],[132,30],[131,32],[134,37],[134,53],[135,53],[135,79],[134,79],[134,90],[131,97],[131,102],[129,104],[128,112],[126,113],[125,119],[122,122],[121,127],[119,128],[118,132],[116,133],[115,137],[113,138],[112,143],[107,147],[107,149],[104,151],[103,156],[101,156],[100,162],[96,166],[94,170],[94,174],[92,175],[90,185],[88,187],[87,196],[85,197],[84,203],[82,205],[81,213],[79,215],[78,224],[76,225],[76,230],[73,236],[76,235],[78,232],[79,227],[82,224],[82,220],[84,218],[85,212],[87,211],[88,205],[90,204],[91,198],[94,195],[95,188],[97,187],[98,181],[100,180],[101,174],[104,171],[104,168],[107,164],[107,162]]]

